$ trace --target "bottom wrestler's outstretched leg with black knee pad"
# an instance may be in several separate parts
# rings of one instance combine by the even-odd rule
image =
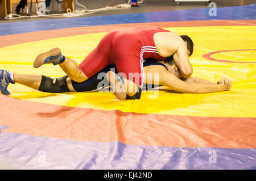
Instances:
[[[96,91],[98,89],[104,89],[105,87],[109,86],[108,79],[106,78],[106,73],[110,70],[113,70],[117,73],[117,69],[114,64],[110,64],[106,66],[104,69],[90,77],[84,82],[75,82],[72,81],[67,75],[60,78],[50,78],[44,75],[35,75],[35,74],[17,74],[17,73],[10,73],[7,70],[0,70],[1,72],[1,79],[0,84],[6,84],[5,90],[3,94],[10,94],[7,91],[7,87],[9,83],[19,83],[24,86],[31,87],[32,89],[40,90],[43,92],[87,92],[87,91]],[[13,78],[9,75],[11,74]],[[3,77],[5,75],[5,78]],[[9,80],[10,79],[10,80]]]

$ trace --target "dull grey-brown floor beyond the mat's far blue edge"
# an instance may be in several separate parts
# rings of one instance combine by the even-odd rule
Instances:
[[[126,3],[126,0],[77,0],[80,4],[86,6],[86,9],[99,9],[105,7],[110,2],[109,6],[118,5],[121,3]],[[217,7],[227,7],[227,6],[243,6],[251,5],[255,3],[255,0],[215,0],[211,1],[217,4]],[[15,4],[13,4],[13,13],[15,13]],[[32,3],[32,15],[35,15],[36,9],[35,3]],[[139,12],[153,12],[153,11],[172,11],[172,10],[186,10],[186,9],[197,9],[197,8],[206,8],[208,5],[204,2],[183,2],[181,5],[177,5],[175,0],[144,0],[142,4],[139,4],[138,7],[131,7],[130,9],[122,10],[108,10],[100,11],[93,14],[87,14],[84,16],[104,16],[104,15],[115,15],[115,14],[132,14]],[[81,8],[75,2],[75,9]],[[30,9],[30,0],[28,0],[28,9]],[[59,4],[52,0],[50,6],[51,13],[59,13]],[[24,10],[25,12],[25,10]],[[24,14],[26,15],[26,14]],[[0,23],[11,23],[11,22],[20,22],[20,21],[29,21],[29,20],[42,20],[42,19],[52,19],[52,18],[22,18],[22,19],[4,19],[0,18]]]

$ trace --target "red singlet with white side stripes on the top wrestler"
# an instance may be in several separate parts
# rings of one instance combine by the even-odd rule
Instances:
[[[135,82],[137,86],[142,86],[143,76],[135,79],[129,77],[129,73],[143,75],[143,59],[164,60],[155,47],[154,34],[157,32],[168,32],[168,30],[140,26],[109,32],[79,67],[86,77],[90,78],[107,65],[115,64],[118,73],[125,73],[127,79]]]

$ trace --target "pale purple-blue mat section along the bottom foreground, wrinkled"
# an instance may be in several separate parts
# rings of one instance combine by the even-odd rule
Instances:
[[[140,146],[8,132],[0,132],[0,145],[5,145],[0,158],[19,169],[256,169],[256,149]]]

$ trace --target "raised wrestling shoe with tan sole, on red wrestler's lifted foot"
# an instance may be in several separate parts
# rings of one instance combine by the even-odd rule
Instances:
[[[53,48],[48,52],[39,54],[34,61],[34,68],[39,68],[43,64],[57,65],[65,60],[59,48]]]

